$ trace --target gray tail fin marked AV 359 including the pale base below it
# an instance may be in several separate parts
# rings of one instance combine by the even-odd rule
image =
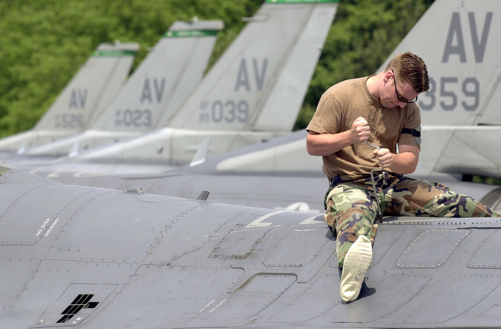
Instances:
[[[413,175],[500,177],[501,7],[496,0],[436,0],[393,51],[426,63],[430,89],[418,96],[422,145]]]

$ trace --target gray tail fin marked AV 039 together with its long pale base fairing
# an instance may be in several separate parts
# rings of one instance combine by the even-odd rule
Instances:
[[[338,0],[266,1],[162,129],[75,160],[179,165],[202,140],[208,156],[292,130]]]

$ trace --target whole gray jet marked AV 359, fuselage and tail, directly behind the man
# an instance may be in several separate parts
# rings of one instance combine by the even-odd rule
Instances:
[[[501,115],[492,105],[492,99],[500,94],[496,92],[496,88],[501,80],[501,67],[492,67],[497,68],[496,63],[501,62],[501,54],[497,51],[501,47],[501,41],[492,36],[495,31],[501,31],[501,21],[495,20],[495,13],[501,10],[501,6],[491,1],[477,2],[473,7],[470,4],[436,1],[389,59],[410,50],[425,60],[430,74],[430,90],[418,99],[422,108],[422,151],[418,169],[412,176],[444,182],[454,191],[475,197],[496,208],[501,201],[501,192],[495,186],[461,181],[463,176],[470,175],[501,177],[498,172],[501,158],[496,158],[499,153],[495,151],[498,142],[494,139],[499,130],[499,125],[495,125],[496,117]],[[444,15],[448,20],[437,18]],[[384,69],[389,59],[378,72]],[[457,67],[461,69],[458,70]],[[457,77],[449,80],[436,78],[451,77],[453,73]],[[437,87],[437,80],[441,81],[442,87]],[[459,86],[459,83],[452,82],[456,80],[465,82],[461,82]],[[452,108],[452,105],[455,106]],[[485,125],[487,117],[491,125]],[[197,167],[186,167],[174,171],[180,171],[182,175],[176,175],[171,170],[162,174],[161,167],[155,168],[156,172],[151,175],[154,179],[148,179],[146,172],[136,171],[138,175],[131,175],[134,170],[130,170],[122,178],[102,178],[100,175],[92,178],[92,175],[86,175],[91,170],[86,170],[85,165],[70,165],[65,162],[51,167],[27,169],[71,184],[124,188],[133,177],[139,177],[141,180],[136,181],[136,184],[151,193],[193,198],[203,185],[203,189],[212,191],[211,197],[218,202],[270,208],[294,208],[293,205],[296,205],[303,209],[321,210],[321,199],[317,202],[312,199],[323,196],[327,180],[321,179],[321,158],[310,156],[306,152],[305,136],[305,131],[295,132],[273,142],[248,146],[212,160],[209,158],[208,161],[212,164],[205,164],[199,170]],[[372,142],[377,144],[377,141]],[[455,146],[444,148],[445,144]],[[470,158],[473,160],[470,161]],[[204,157],[197,160],[200,162],[203,159]],[[113,172],[109,168],[107,170],[108,173]],[[77,173],[63,174],[65,172]],[[193,183],[188,184],[186,172],[200,173],[204,177],[194,176]],[[158,179],[162,175],[165,178]],[[261,180],[261,184],[254,187],[252,183],[245,183],[245,189],[235,189],[236,181],[239,180],[237,176],[244,182],[256,183]],[[250,176],[253,179],[249,179]],[[280,176],[282,177],[279,178]],[[293,182],[299,181],[301,184],[298,183],[298,187],[291,186]],[[191,190],[191,185],[196,188]],[[284,186],[287,188],[282,188]],[[302,186],[305,188],[301,188]],[[294,198],[284,198],[284,191],[294,193]],[[303,191],[304,194],[301,195]],[[253,200],[261,201],[257,203]]]

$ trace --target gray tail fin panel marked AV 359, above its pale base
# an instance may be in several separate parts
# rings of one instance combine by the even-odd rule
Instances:
[[[417,101],[423,125],[501,124],[499,17],[496,0],[436,0],[378,72],[410,51],[429,73]]]

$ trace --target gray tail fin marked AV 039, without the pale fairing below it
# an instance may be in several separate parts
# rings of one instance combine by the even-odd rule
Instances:
[[[175,114],[161,125],[290,131],[338,0],[267,0]]]

